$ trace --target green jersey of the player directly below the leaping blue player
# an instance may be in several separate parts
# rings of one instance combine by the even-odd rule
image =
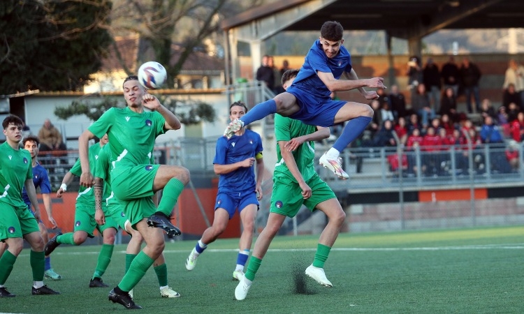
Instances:
[[[280,114],[275,114],[275,138],[277,140],[277,164],[275,165],[275,177],[283,176],[288,177],[292,181],[296,182],[293,174],[289,171],[282,153],[280,152],[279,141],[289,141],[295,137],[308,135],[316,131],[315,126],[304,124],[302,121],[291,119],[288,117],[282,117]],[[293,158],[295,158],[298,170],[302,174],[305,181],[310,179],[316,174],[313,160],[315,156],[314,142],[304,142],[302,145],[293,151]]]

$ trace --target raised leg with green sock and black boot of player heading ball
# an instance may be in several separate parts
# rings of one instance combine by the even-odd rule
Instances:
[[[163,189],[157,212],[147,219],[151,227],[159,227],[168,234],[180,235],[180,230],[170,222],[171,212],[177,203],[177,199],[189,183],[189,170],[180,166],[160,165],[153,182],[153,190],[157,192]]]

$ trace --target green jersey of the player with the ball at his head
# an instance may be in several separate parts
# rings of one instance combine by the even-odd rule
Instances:
[[[159,112],[133,112],[129,107],[113,107],[106,111],[89,130],[97,137],[105,133],[109,137],[110,158],[115,172],[119,165],[144,165],[150,163],[154,140],[165,132]],[[120,167],[122,169],[122,167]],[[112,173],[113,177],[117,174]]]

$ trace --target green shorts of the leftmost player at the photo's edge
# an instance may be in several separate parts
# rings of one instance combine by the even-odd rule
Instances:
[[[21,238],[24,234],[40,232],[38,222],[26,204],[23,207],[14,207],[0,202],[0,213],[0,240]]]

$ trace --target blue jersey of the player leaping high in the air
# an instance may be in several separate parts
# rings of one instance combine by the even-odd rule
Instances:
[[[318,71],[333,73],[335,79],[338,80],[342,73],[351,71],[351,55],[341,45],[338,54],[334,58],[329,59],[322,50],[320,40],[315,40],[310,48],[310,52],[307,52],[304,64],[291,86],[309,91],[312,96],[318,98],[330,98],[331,91],[316,75]]]

